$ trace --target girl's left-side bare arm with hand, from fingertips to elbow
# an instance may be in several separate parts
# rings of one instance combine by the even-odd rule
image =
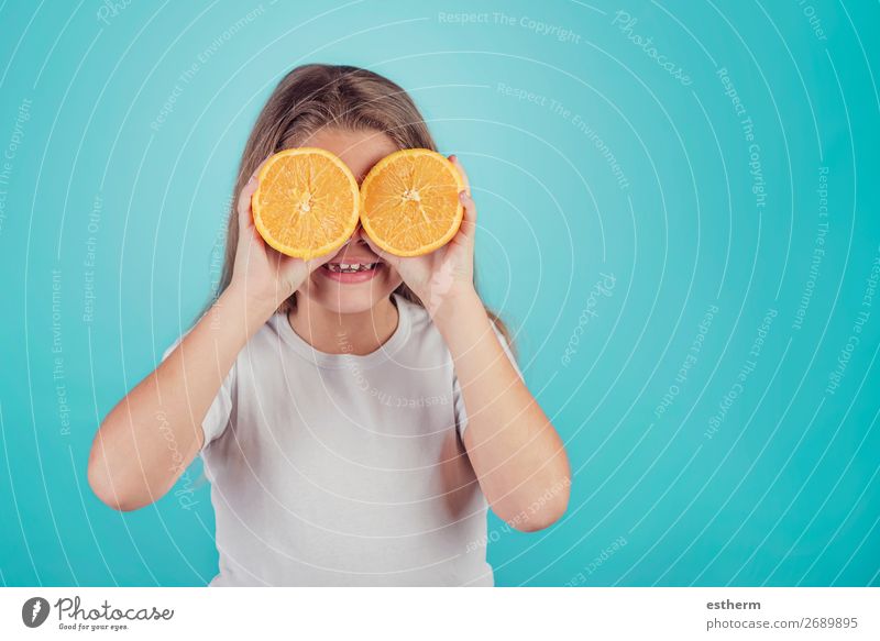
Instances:
[[[89,485],[113,509],[144,507],[174,486],[205,442],[201,422],[239,352],[329,258],[305,263],[267,247],[251,214],[255,189],[252,177],[239,197],[229,287],[168,357],[107,415],[95,436]]]

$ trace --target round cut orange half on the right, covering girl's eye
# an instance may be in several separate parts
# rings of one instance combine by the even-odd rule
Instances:
[[[380,247],[420,256],[443,246],[461,226],[464,183],[446,156],[402,150],[386,156],[361,184],[361,224]]]

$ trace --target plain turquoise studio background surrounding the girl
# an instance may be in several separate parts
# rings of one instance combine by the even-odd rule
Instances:
[[[206,302],[263,101],[327,62],[399,82],[462,158],[482,290],[566,442],[565,518],[491,518],[498,585],[880,585],[876,2],[112,7],[0,3],[3,584],[216,573],[199,464],[121,515],[88,450]]]

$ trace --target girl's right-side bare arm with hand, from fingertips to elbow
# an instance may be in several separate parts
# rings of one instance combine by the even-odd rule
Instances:
[[[570,469],[562,441],[507,358],[474,288],[476,207],[468,176],[459,195],[464,219],[444,247],[414,258],[370,246],[426,303],[455,367],[468,412],[464,446],[480,487],[499,518],[522,531],[546,528],[569,502]]]

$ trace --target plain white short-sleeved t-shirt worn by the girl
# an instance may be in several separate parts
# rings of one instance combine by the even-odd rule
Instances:
[[[394,301],[372,354],[318,352],[282,313],[239,354],[202,422],[210,585],[494,584],[451,355],[424,308]]]

